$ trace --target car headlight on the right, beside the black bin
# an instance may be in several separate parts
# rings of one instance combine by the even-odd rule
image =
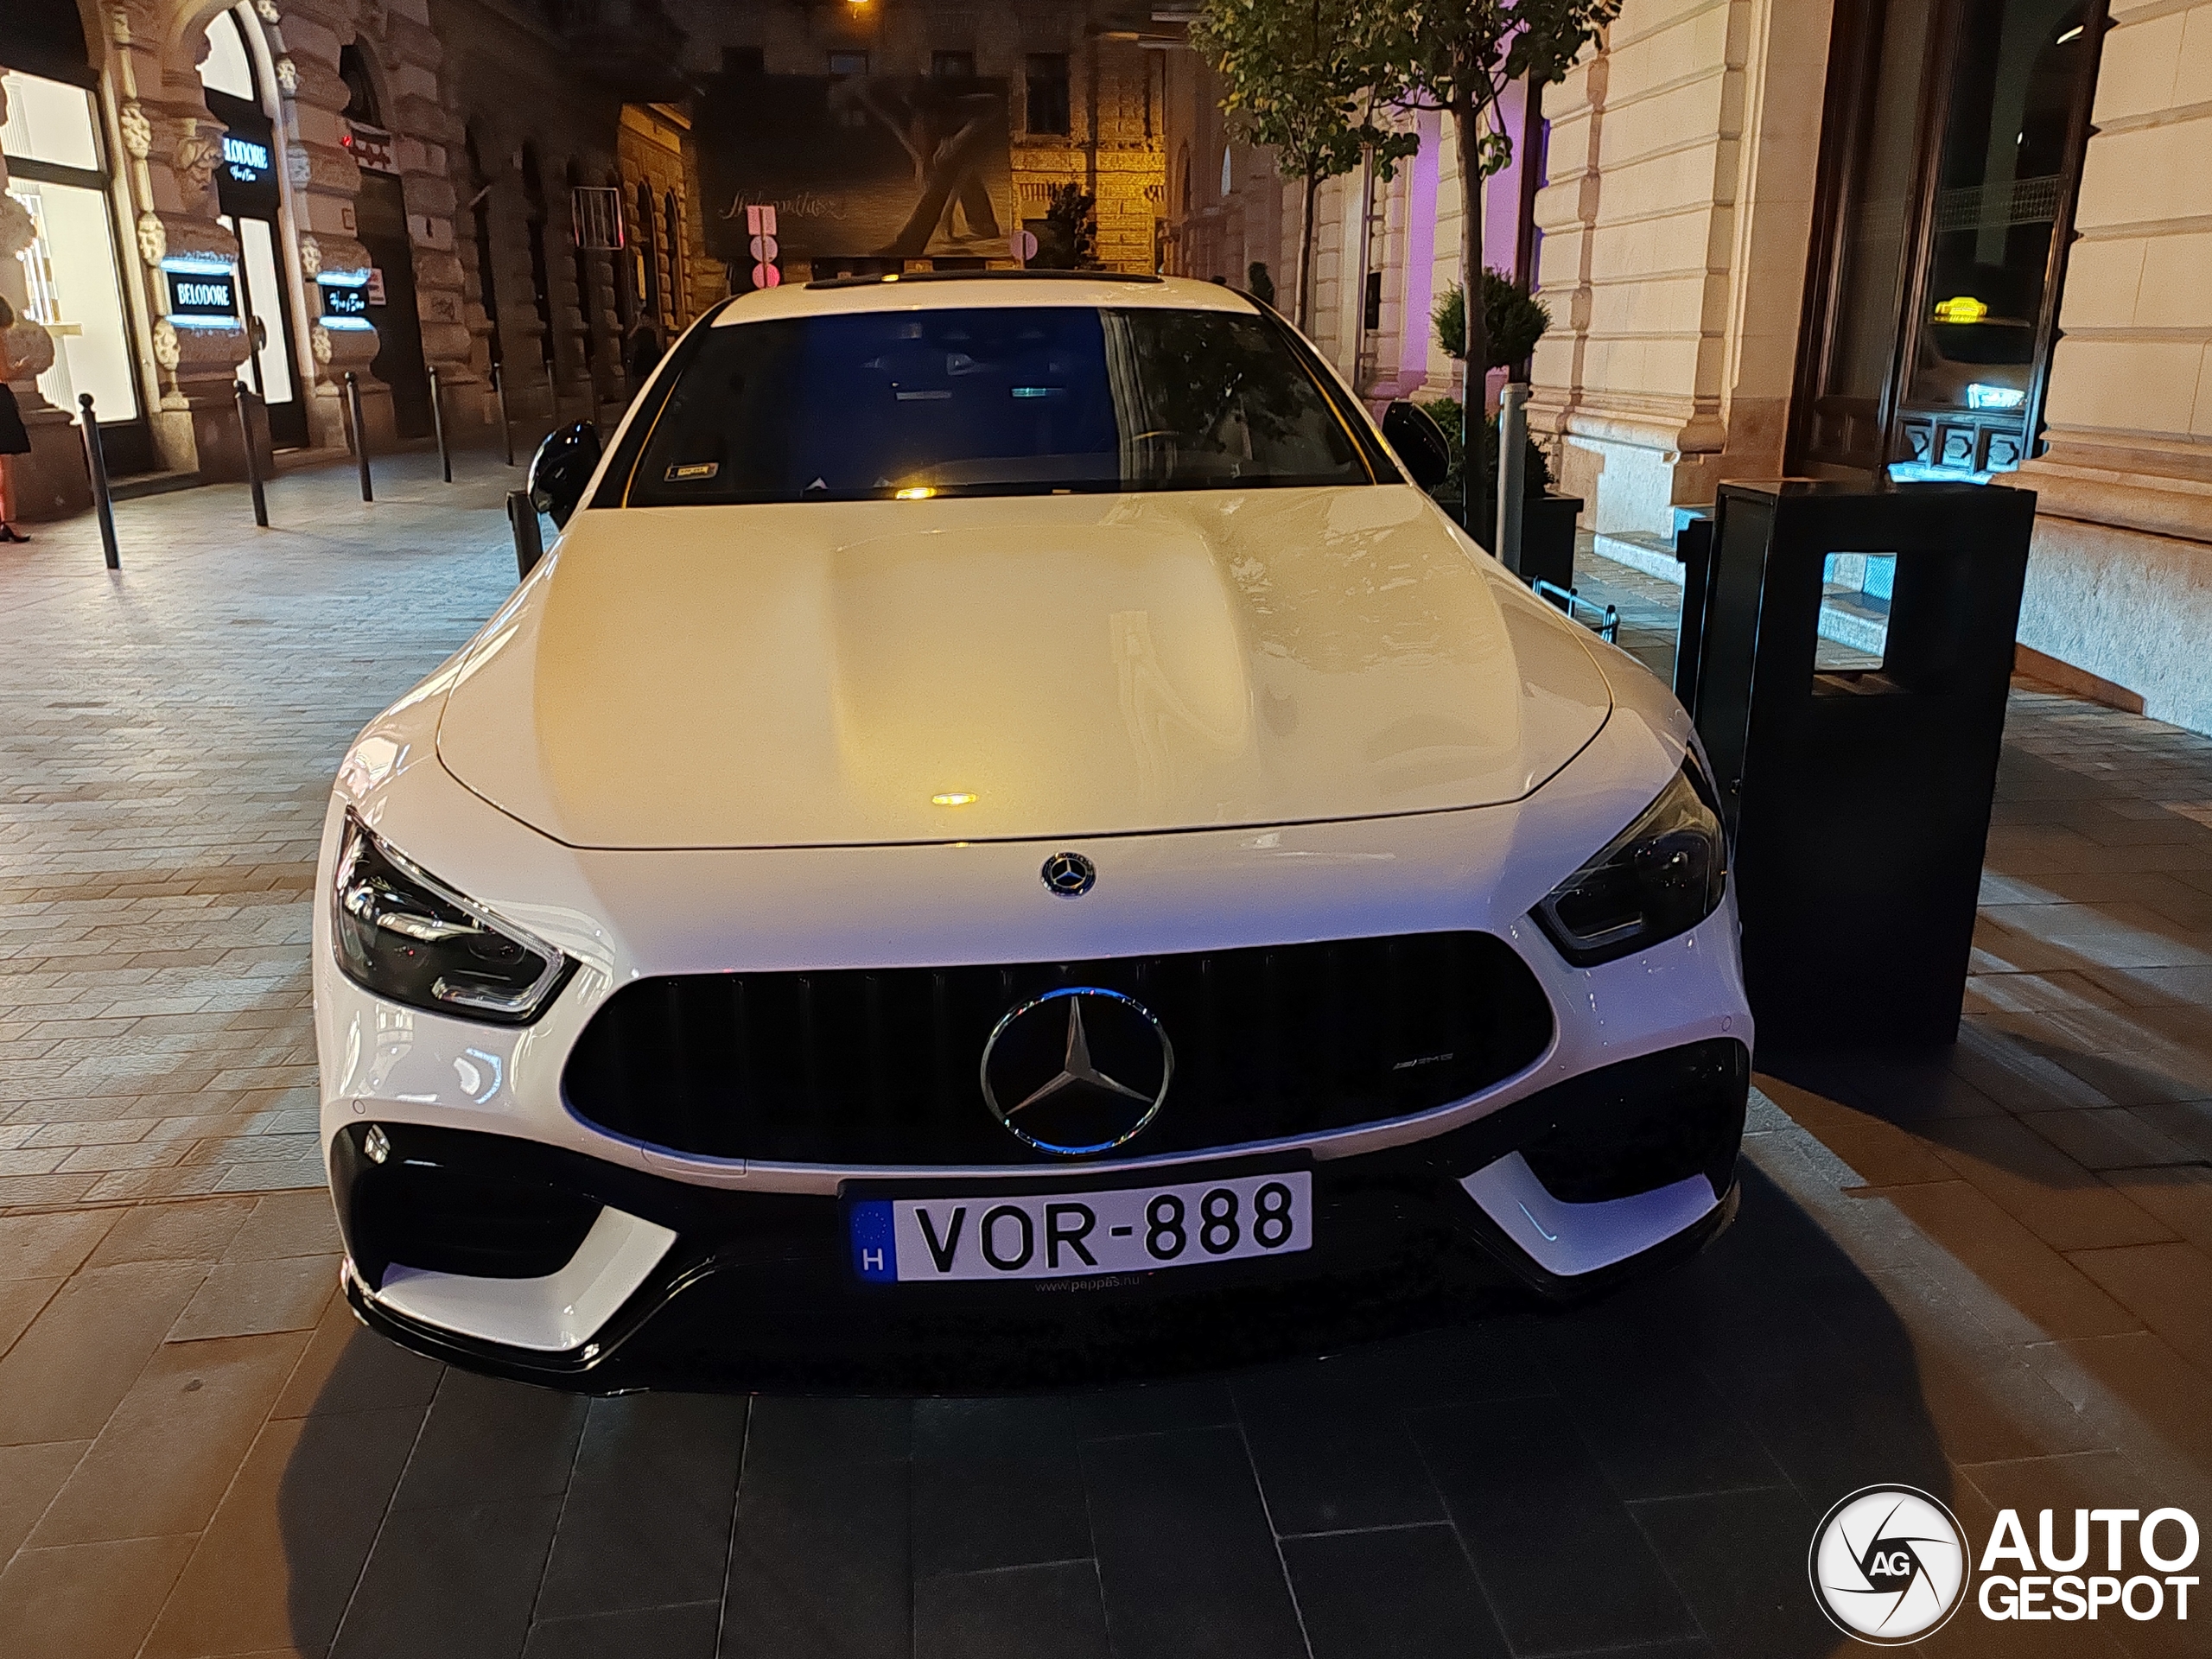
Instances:
[[[1597,967],[1688,933],[1721,905],[1728,836],[1697,759],[1683,763],[1601,854],[1562,880],[1535,920],[1575,967]]]

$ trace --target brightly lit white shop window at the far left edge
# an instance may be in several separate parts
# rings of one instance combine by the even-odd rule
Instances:
[[[24,312],[55,345],[38,389],[71,411],[77,394],[91,392],[102,425],[135,420],[137,374],[91,93],[15,71],[0,75],[0,88],[9,106],[0,153],[13,175],[7,192],[31,215],[33,232],[15,254]]]

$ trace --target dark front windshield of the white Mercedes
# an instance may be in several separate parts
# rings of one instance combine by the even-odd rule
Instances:
[[[1263,316],[1088,305],[706,330],[628,504],[1374,482]]]

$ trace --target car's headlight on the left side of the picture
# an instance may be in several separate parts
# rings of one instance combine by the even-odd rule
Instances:
[[[338,967],[409,1009],[529,1024],[568,978],[568,958],[498,922],[378,841],[352,812],[330,896]]]

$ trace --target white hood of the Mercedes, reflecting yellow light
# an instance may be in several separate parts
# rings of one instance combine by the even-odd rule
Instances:
[[[799,847],[1517,801],[1582,630],[1413,489],[580,513],[438,754],[580,847]]]

